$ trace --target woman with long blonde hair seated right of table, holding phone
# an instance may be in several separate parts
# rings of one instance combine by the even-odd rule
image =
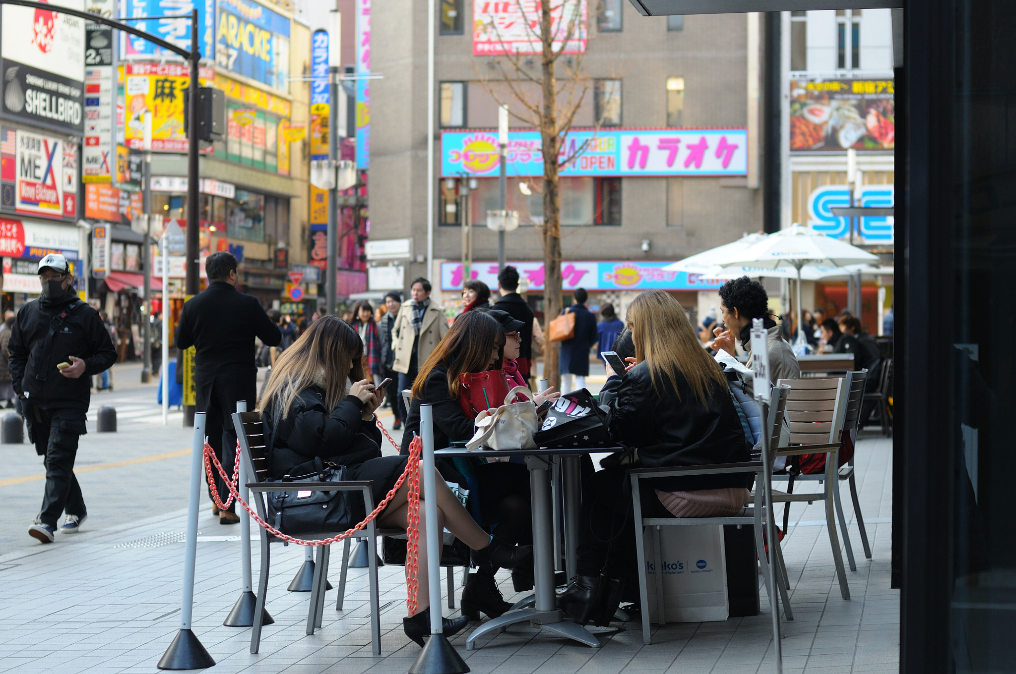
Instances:
[[[646,290],[635,297],[626,321],[635,357],[624,373],[608,370],[599,403],[609,407],[611,437],[637,451],[634,467],[748,461],[726,379],[678,300],[663,290]],[[631,492],[624,488],[626,469],[633,466],[618,463],[605,459],[605,469],[584,489],[578,576],[561,597],[566,614],[581,624],[609,623],[626,581],[637,596]],[[643,513],[734,515],[748,501],[751,481],[750,474],[659,478],[654,492],[643,493]]]

